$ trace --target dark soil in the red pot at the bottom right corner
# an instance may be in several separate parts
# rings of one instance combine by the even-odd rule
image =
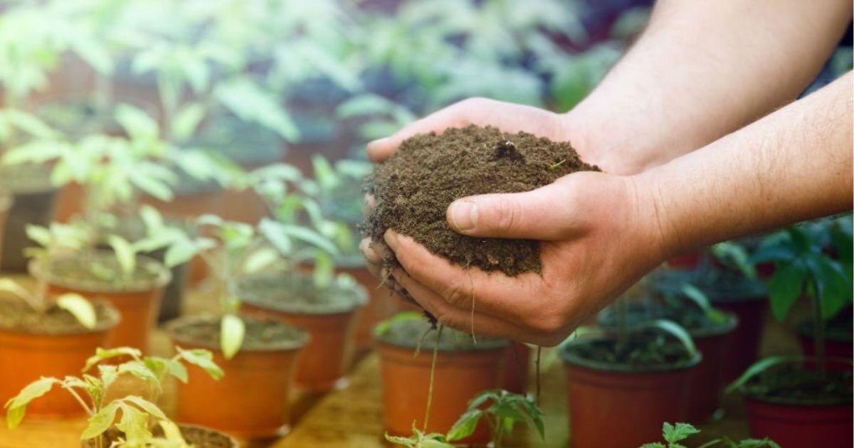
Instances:
[[[822,381],[817,370],[784,364],[754,376],[740,392],[763,401],[787,404],[844,404],[854,397],[851,371],[828,371]]]

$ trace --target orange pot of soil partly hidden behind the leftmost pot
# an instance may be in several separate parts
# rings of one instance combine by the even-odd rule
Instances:
[[[49,294],[108,300],[119,310],[121,323],[110,332],[106,346],[132,346],[144,352],[171,275],[161,263],[144,256],[137,256],[130,279],[122,279],[120,272],[115,256],[107,251],[55,258],[50,265],[33,260],[30,265],[32,276],[47,282]]]

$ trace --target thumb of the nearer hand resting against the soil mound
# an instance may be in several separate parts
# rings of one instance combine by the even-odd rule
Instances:
[[[579,224],[571,183],[552,183],[524,193],[468,196],[447,207],[457,233],[493,238],[557,240]]]

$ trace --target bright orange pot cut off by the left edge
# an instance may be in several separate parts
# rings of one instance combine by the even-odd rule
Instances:
[[[104,304],[107,313],[95,329],[73,334],[24,333],[0,329],[0,402],[6,403],[32,381],[42,376],[64,378],[79,375],[97,347],[104,346],[108,333],[119,323],[118,311]],[[27,406],[28,416],[77,416],[84,414],[67,391],[55,388]]]

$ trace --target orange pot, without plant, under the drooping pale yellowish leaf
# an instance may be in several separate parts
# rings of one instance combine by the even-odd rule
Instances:
[[[167,323],[173,345],[206,348],[225,375],[219,381],[189,366],[189,381],[178,382],[176,420],[216,428],[241,438],[276,437],[290,430],[290,387],[306,338],[283,341],[265,350],[243,348],[225,359],[219,341],[198,344],[176,335],[182,325],[199,322],[182,317]]]

